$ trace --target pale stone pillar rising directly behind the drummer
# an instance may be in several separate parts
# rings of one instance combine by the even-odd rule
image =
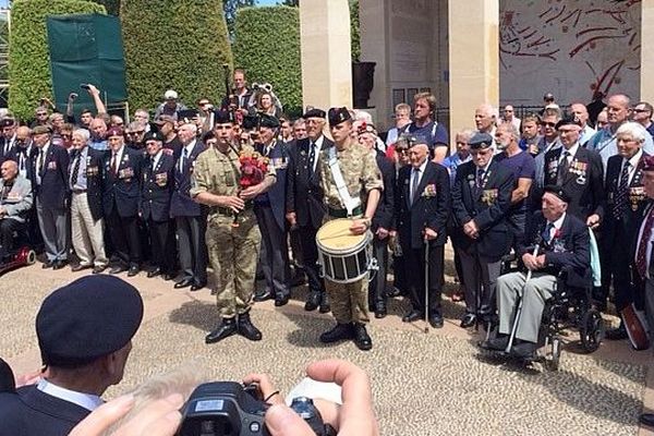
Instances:
[[[324,110],[352,107],[348,0],[300,2],[302,102]]]

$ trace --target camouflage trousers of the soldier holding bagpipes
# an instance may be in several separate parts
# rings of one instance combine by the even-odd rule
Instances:
[[[233,318],[252,307],[256,263],[262,234],[252,210],[233,217],[216,215],[207,225],[206,241],[214,269],[218,312],[222,318]]]

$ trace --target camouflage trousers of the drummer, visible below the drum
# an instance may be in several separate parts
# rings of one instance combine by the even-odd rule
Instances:
[[[370,323],[367,288],[367,274],[363,276],[363,279],[353,283],[336,283],[325,278],[325,290],[337,323]]]

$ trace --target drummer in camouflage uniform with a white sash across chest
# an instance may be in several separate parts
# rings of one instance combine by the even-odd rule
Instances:
[[[331,108],[328,113],[334,147],[320,152],[320,184],[325,191],[327,220],[351,218],[350,231],[364,234],[384,182],[375,158],[351,137],[352,117],[347,108]],[[339,183],[340,181],[340,183]],[[360,350],[373,348],[365,325],[368,318],[367,275],[353,283],[336,283],[325,278],[325,288],[331,302],[336,327],[320,335],[320,342],[331,343],[353,339]]]

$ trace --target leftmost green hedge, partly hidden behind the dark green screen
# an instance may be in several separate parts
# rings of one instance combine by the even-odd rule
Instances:
[[[9,109],[21,119],[34,117],[41,97],[52,99],[46,16],[105,13],[100,4],[84,0],[15,0],[9,37]]]

